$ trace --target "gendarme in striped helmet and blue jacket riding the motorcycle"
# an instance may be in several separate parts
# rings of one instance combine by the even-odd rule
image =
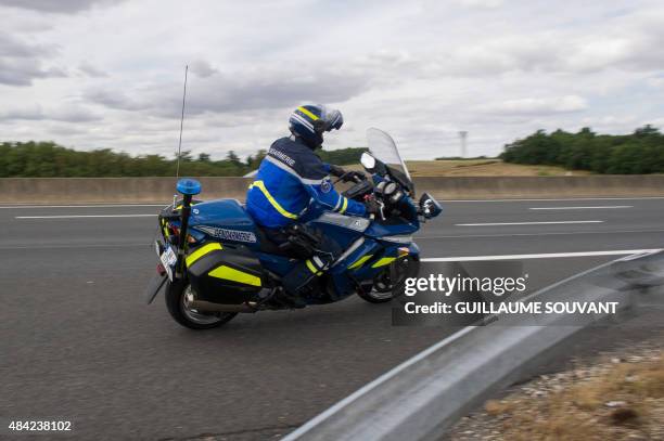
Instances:
[[[340,111],[319,104],[293,111],[289,118],[291,135],[272,143],[246,195],[247,211],[272,242],[283,244],[304,238],[312,245],[309,258],[283,277],[283,285],[297,306],[303,306],[301,295],[340,251],[332,241],[298,224],[310,203],[350,216],[370,216],[380,209],[373,200],[365,205],[339,194],[329,178],[332,174],[345,181],[366,179],[362,173],[325,164],[315,153],[322,146],[323,133],[339,130],[343,122]]]

